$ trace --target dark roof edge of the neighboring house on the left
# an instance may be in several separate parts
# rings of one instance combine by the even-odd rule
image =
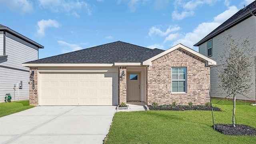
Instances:
[[[33,44],[34,46],[37,46],[38,48],[44,48],[44,46],[42,46],[41,44],[38,44],[37,42],[30,40],[29,38],[27,38],[26,36],[23,36],[22,34],[19,34],[18,32],[15,32],[14,30],[8,28],[7,26],[4,26],[2,24],[0,24],[0,31],[7,31],[11,34],[13,34],[14,36],[17,36],[18,38],[21,38],[22,40],[25,40],[26,42]]]

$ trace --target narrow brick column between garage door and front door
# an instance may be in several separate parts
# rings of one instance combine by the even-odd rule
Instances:
[[[124,79],[121,79],[120,76],[122,74],[122,71],[124,71]],[[118,102],[119,104],[121,102],[126,103],[126,78],[127,78],[127,73],[126,73],[126,66],[120,66],[118,68]]]

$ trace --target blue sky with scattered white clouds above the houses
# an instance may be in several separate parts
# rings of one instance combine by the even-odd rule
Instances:
[[[45,58],[123,41],[193,45],[254,0],[0,0],[0,24],[44,46]]]

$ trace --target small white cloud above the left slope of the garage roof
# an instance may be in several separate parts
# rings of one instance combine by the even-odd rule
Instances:
[[[54,27],[54,28],[58,28],[60,27],[60,24],[56,21],[56,20],[40,20],[39,22],[37,22],[37,26],[38,26],[38,30],[37,30],[37,34],[39,36],[44,36],[44,32],[45,29],[48,27]]]

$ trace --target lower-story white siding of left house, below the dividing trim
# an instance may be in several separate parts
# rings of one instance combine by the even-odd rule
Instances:
[[[29,72],[20,70],[11,70],[9,68],[0,67],[0,102],[4,102],[6,94],[11,94],[12,100],[18,100],[18,83],[22,81],[22,89],[20,89],[20,100],[28,100],[29,98]],[[13,89],[16,84],[16,91]],[[15,96],[15,97],[14,97]]]

